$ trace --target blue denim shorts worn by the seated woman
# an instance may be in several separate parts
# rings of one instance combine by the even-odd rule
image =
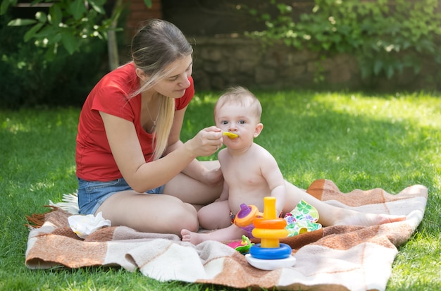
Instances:
[[[95,214],[99,206],[103,204],[108,197],[117,192],[133,190],[124,178],[118,180],[101,182],[87,181],[78,179],[78,206],[80,214]],[[148,194],[162,194],[166,185],[147,191]]]

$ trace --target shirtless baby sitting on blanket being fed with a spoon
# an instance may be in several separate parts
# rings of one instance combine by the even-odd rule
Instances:
[[[276,199],[276,211],[282,212],[286,199],[286,186],[282,173],[274,157],[259,144],[254,143],[263,129],[261,123],[262,107],[259,100],[242,87],[229,89],[219,97],[214,119],[216,127],[238,137],[225,136],[226,148],[218,153],[218,160],[224,177],[221,197],[198,212],[201,227],[214,229],[216,216],[213,211],[230,211],[232,220],[240,211],[240,204],[255,205],[263,211],[263,197]],[[228,210],[227,210],[228,209]],[[225,223],[219,222],[219,225]],[[249,236],[246,230],[231,224],[209,233],[194,233],[182,230],[182,241],[199,244],[205,240],[239,240],[242,235]]]

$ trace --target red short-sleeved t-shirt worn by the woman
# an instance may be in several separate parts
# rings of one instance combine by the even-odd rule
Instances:
[[[175,99],[175,110],[184,109],[192,100],[194,85],[191,77],[189,80],[190,87],[184,96]],[[78,123],[75,153],[78,178],[88,181],[110,181],[123,177],[113,159],[99,111],[130,120],[135,125],[145,161],[151,161],[154,149],[153,135],[141,126],[141,94],[128,98],[138,88],[135,64],[128,63],[105,75],[89,93]]]

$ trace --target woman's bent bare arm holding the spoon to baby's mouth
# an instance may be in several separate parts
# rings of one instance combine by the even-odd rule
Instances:
[[[216,128],[205,128],[175,148],[162,159],[146,163],[132,122],[99,112],[106,128],[108,143],[118,168],[130,187],[145,192],[170,181],[184,170],[197,156],[208,156],[216,151],[222,138]],[[182,125],[182,120],[180,121]],[[175,125],[173,125],[175,127]]]

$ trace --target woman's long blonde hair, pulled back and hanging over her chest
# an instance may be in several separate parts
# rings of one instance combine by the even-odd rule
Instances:
[[[149,76],[149,80],[136,92],[130,94],[130,97],[135,97],[166,78],[174,69],[165,70],[170,63],[190,56],[192,53],[191,44],[179,28],[172,23],[160,19],[150,19],[144,22],[132,39],[131,54],[136,68],[143,70]],[[162,101],[158,122],[153,132],[156,137],[154,160],[159,159],[166,150],[175,116],[175,99],[163,95],[160,95],[160,98]]]

